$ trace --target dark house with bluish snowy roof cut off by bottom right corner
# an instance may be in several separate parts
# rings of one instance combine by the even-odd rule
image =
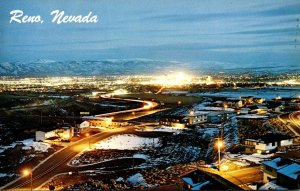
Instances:
[[[300,164],[293,163],[278,170],[277,183],[289,189],[300,189]]]

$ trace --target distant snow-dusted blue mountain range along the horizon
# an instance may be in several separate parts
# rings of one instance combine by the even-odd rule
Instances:
[[[157,61],[150,59],[129,60],[86,60],[53,61],[40,59],[31,62],[2,62],[0,76],[100,76],[163,74],[170,71],[187,71],[193,74],[203,73],[289,73],[299,72],[300,66],[253,67],[222,62],[204,61],[184,63],[177,61]]]

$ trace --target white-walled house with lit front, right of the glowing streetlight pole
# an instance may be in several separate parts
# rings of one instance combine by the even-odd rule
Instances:
[[[293,137],[279,133],[268,133],[263,136],[245,140],[245,153],[271,153],[285,150],[293,145]]]

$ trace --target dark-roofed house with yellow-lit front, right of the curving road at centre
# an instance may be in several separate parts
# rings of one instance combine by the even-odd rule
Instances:
[[[180,115],[165,115],[159,120],[160,125],[185,128],[188,125],[188,119]]]

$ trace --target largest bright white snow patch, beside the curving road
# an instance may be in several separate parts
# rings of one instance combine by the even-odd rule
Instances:
[[[136,135],[114,135],[96,144],[96,149],[137,150],[145,147],[159,146],[158,138],[144,138]]]

